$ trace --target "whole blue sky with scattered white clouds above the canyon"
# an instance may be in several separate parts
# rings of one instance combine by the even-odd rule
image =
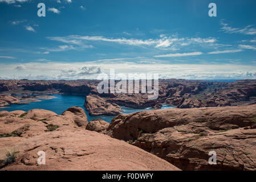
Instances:
[[[0,23],[0,79],[256,78],[255,0],[0,0]]]

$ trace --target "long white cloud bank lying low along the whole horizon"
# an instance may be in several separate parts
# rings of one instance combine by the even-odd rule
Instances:
[[[239,64],[138,64],[138,63],[93,63],[93,62],[31,62],[22,64],[0,64],[0,77],[76,80],[95,79],[100,72],[109,74],[110,68],[117,73],[159,73],[160,78],[184,79],[245,79],[256,78],[256,68]],[[17,69],[15,69],[17,68]],[[22,69],[25,68],[25,69]]]

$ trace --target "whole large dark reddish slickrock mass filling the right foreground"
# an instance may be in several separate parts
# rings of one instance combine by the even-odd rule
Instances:
[[[256,105],[120,114],[107,130],[184,170],[256,170]]]

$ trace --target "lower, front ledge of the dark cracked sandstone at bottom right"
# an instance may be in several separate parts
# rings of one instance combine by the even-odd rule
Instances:
[[[135,146],[182,170],[255,171],[255,144],[256,129],[234,129],[207,136],[162,129],[154,134],[142,134]],[[217,154],[216,165],[208,163],[210,151]]]

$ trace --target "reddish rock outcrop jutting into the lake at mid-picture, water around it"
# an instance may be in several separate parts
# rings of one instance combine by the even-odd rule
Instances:
[[[111,104],[96,95],[86,97],[84,107],[89,111],[90,115],[118,115],[121,114],[121,107],[115,103]]]

